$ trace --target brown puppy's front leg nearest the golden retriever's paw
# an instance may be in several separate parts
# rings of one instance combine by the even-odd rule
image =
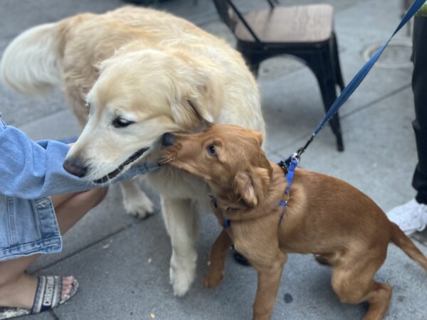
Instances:
[[[218,285],[224,275],[224,262],[228,248],[233,244],[230,235],[223,229],[216,238],[211,250],[211,265],[209,265],[209,273],[204,279],[206,288],[214,288]]]

